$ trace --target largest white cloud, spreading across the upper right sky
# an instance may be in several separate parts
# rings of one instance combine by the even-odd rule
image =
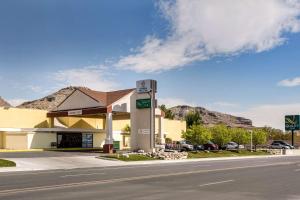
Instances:
[[[282,45],[284,33],[300,31],[299,0],[161,0],[171,28],[166,38],[147,36],[121,58],[119,68],[157,72],[213,56],[262,52]]]

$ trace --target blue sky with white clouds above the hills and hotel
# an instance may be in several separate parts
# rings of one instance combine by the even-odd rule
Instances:
[[[300,114],[300,0],[2,0],[0,96],[158,81],[158,100],[283,128]]]

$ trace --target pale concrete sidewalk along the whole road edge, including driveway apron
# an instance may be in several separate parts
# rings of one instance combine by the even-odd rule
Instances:
[[[110,166],[155,165],[155,164],[172,164],[172,163],[187,163],[187,162],[280,158],[280,157],[291,157],[291,156],[299,156],[299,155],[218,157],[218,158],[197,158],[197,159],[185,159],[185,160],[149,160],[149,161],[130,161],[130,162],[101,159],[95,156],[6,158],[8,160],[14,161],[17,164],[17,166],[0,168],[0,172],[76,169],[76,168],[110,167]]]

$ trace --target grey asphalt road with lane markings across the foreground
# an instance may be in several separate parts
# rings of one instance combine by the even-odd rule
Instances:
[[[0,199],[298,200],[300,157],[0,173]]]

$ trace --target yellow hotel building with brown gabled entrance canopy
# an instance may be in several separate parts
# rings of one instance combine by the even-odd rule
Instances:
[[[136,149],[139,145],[131,144],[132,136],[145,133],[130,130],[142,123],[132,119],[135,96],[135,89],[99,92],[79,88],[50,112],[0,107],[0,148]],[[163,144],[165,138],[181,140],[185,128],[185,121],[165,119],[164,113],[155,110],[157,144]]]

